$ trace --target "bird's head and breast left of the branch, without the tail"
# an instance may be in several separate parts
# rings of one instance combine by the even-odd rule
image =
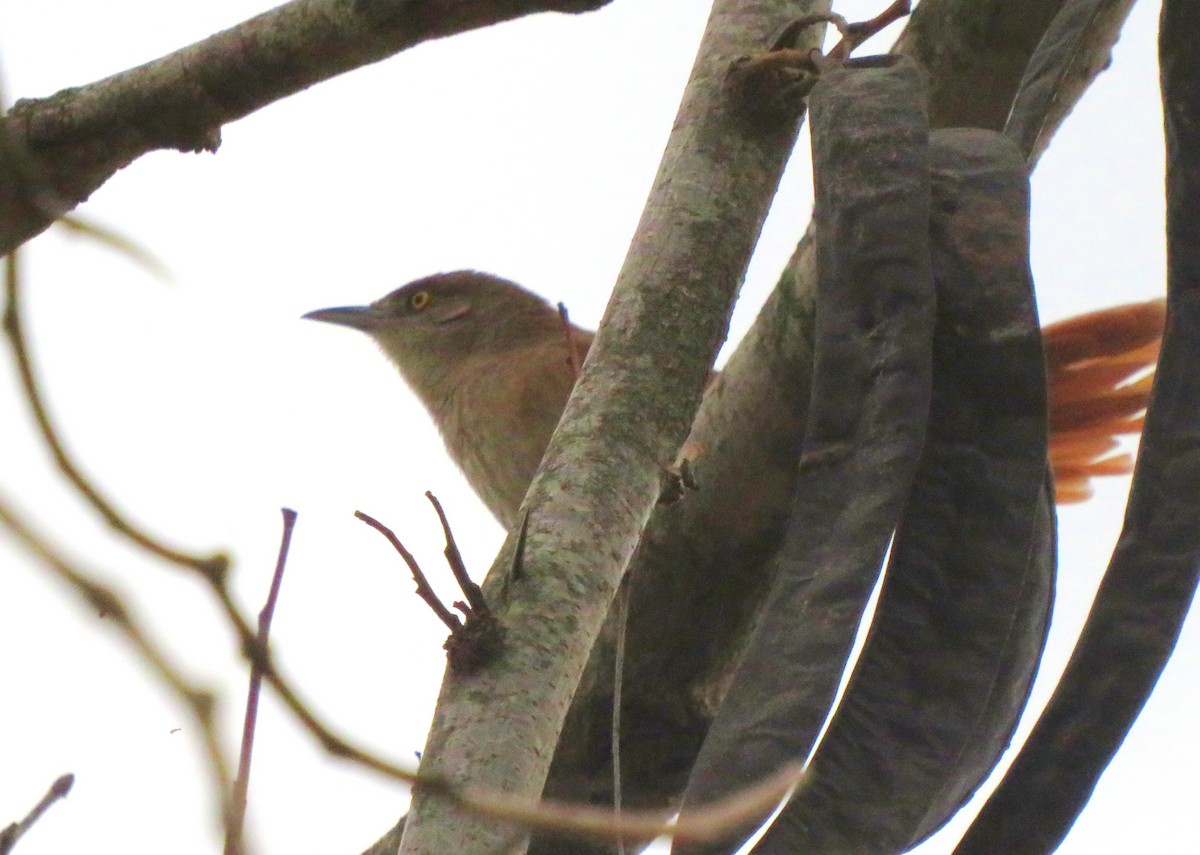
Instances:
[[[593,334],[515,282],[474,270],[426,276],[370,305],[304,317],[374,340],[432,415],[472,489],[511,530]]]

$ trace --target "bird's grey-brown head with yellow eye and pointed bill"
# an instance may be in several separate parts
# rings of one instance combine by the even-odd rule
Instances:
[[[544,299],[474,270],[426,276],[370,305],[318,309],[304,317],[366,333],[426,399],[473,363],[562,335],[558,313]]]

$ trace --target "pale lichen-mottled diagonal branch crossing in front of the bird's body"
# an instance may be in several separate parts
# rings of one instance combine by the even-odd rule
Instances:
[[[422,773],[535,800],[568,704],[692,421],[725,337],[797,120],[756,122],[731,64],[826,2],[719,0],[654,189],[542,466],[526,500],[520,579],[488,576],[506,645],[474,677],[448,675]],[[415,788],[403,853],[491,853],[506,830]]]

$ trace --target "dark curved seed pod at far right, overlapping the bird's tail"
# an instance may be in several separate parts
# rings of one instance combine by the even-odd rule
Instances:
[[[1165,0],[1166,333],[1124,527],[1050,702],[956,855],[1054,851],[1141,712],[1200,581],[1200,6]]]

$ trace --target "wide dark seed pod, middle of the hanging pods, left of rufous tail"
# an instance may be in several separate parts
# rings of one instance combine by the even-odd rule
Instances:
[[[991,131],[930,140],[937,325],[925,452],[853,676],[755,853],[899,853],[1000,758],[1054,581],[1028,178]]]

